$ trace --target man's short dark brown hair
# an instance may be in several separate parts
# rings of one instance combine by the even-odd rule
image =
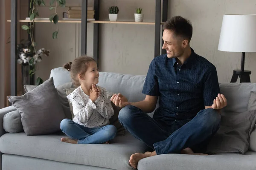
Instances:
[[[192,37],[192,24],[190,20],[187,20],[180,16],[172,17],[170,20],[167,20],[163,25],[163,29],[172,31],[177,37],[181,37],[190,42]]]

